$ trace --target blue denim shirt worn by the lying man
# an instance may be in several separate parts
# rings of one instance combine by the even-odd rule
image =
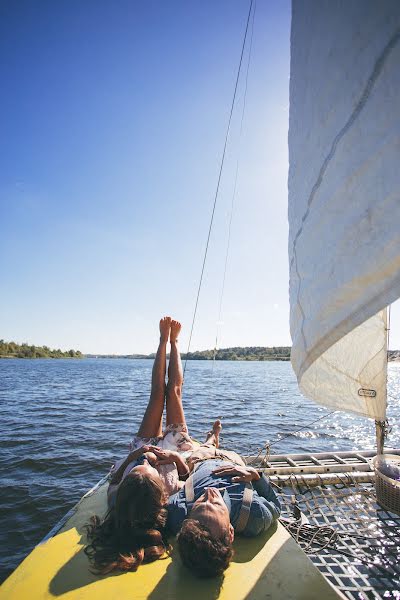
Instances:
[[[242,506],[244,483],[232,483],[234,475],[219,475],[213,471],[220,466],[232,466],[233,463],[226,460],[205,460],[199,464],[193,475],[194,499],[195,501],[204,493],[205,488],[215,487],[221,490],[224,502],[229,510],[230,521],[235,528]],[[254,493],[250,507],[250,516],[245,530],[245,536],[255,536],[266,531],[272,523],[278,519],[281,508],[279,500],[273,491],[271,484],[265,476],[258,481],[252,482]],[[186,501],[185,489],[179,490],[168,501],[168,528],[176,534],[180,530],[183,521],[190,517],[193,503]]]

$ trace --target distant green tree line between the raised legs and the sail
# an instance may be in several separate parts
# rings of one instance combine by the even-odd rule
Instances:
[[[201,350],[182,355],[187,360],[213,360],[214,350]],[[235,348],[220,348],[215,354],[215,360],[290,360],[290,346],[248,346]]]

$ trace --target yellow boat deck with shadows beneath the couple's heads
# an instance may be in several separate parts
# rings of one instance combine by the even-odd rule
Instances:
[[[278,524],[258,538],[237,538],[225,576],[201,580],[181,564],[176,551],[136,573],[97,577],[83,552],[84,526],[106,510],[107,483],[82,498],[53,537],[39,544],[0,589],[1,600],[296,599],[344,598]]]

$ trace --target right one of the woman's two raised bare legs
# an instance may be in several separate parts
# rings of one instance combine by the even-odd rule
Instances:
[[[182,325],[178,321],[171,320],[169,337],[171,353],[169,355],[167,383],[167,425],[171,425],[172,423],[186,423],[182,406],[183,370],[178,348],[178,336],[181,328]]]

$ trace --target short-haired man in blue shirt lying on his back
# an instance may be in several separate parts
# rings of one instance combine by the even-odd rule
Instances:
[[[221,422],[187,459],[189,477],[168,501],[168,529],[178,534],[182,562],[196,575],[220,575],[233,557],[235,533],[247,537],[266,531],[280,516],[268,479],[245,465],[236,453],[219,448]],[[169,451],[151,448],[160,462]]]

